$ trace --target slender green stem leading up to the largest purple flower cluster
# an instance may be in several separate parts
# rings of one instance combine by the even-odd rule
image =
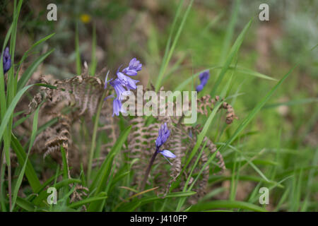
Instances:
[[[98,131],[98,121],[100,121],[100,111],[102,110],[102,104],[104,103],[105,96],[106,96],[106,91],[104,91],[104,93],[102,94],[102,98],[100,99],[100,103],[98,105],[98,111],[96,112],[96,117],[95,117],[92,144],[90,145],[90,157],[88,159],[88,172],[87,172],[87,182],[88,182],[88,184],[90,182],[90,173],[92,171],[92,165],[93,165],[93,157],[94,157],[94,150],[95,150],[95,144],[96,144],[96,136],[97,136],[97,131]]]

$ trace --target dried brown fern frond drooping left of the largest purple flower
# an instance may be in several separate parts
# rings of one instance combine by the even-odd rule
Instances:
[[[71,164],[79,167],[79,154],[72,145],[71,128],[77,124],[79,117],[91,119],[95,114],[98,103],[105,93],[104,82],[98,77],[89,76],[87,68],[81,76],[55,81],[48,81],[49,79],[49,76],[41,76],[40,83],[54,85],[56,89],[41,87],[28,105],[29,110],[26,114],[31,114],[42,103],[39,121],[45,124],[55,117],[58,121],[37,136],[33,149],[43,153],[44,157],[53,154],[52,157],[59,161],[59,150],[62,146],[68,159],[71,159]]]

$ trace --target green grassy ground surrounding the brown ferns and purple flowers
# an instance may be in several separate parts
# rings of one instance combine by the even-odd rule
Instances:
[[[318,40],[312,11],[316,3],[270,1],[270,20],[264,22],[258,20],[260,3],[184,1],[177,16],[179,1],[57,1],[57,22],[45,19],[45,2],[4,3],[2,52],[10,47],[14,66],[6,75],[0,66],[1,210],[317,211],[317,49],[310,51]],[[39,40],[26,54],[30,56],[19,73],[23,54]],[[166,198],[158,198],[151,184],[146,192],[132,184],[134,170],[118,160],[126,157],[123,150],[130,131],[129,121],[122,117],[117,122],[120,135],[112,146],[113,155],[107,155],[100,169],[92,169],[89,160],[102,153],[107,134],[97,132],[102,124],[98,116],[81,119],[80,135],[73,140],[87,155],[73,179],[67,175],[63,150],[60,162],[51,157],[42,160],[42,154],[31,151],[37,131],[48,126],[37,120],[40,108],[28,119],[29,130],[21,133],[13,126],[17,112],[25,111],[34,95],[26,85],[35,83],[39,74],[71,78],[83,70],[83,61],[88,61],[92,76],[104,66],[114,73],[132,57],[143,63],[141,83],[163,85],[165,90],[178,89],[187,79],[182,90],[194,90],[199,81],[192,76],[216,67],[199,97],[227,97],[239,117],[230,126],[214,111],[199,117],[196,124],[206,129],[199,136],[216,143],[227,169],[223,174],[210,172],[206,195],[194,203],[188,202],[194,195],[191,184],[181,191],[171,190]],[[23,99],[19,100],[24,93],[29,96],[23,96],[23,106]],[[189,151],[195,157],[199,154],[195,147]],[[18,157],[18,166],[11,165],[10,155],[13,162]],[[30,157],[28,164],[25,157]],[[213,158],[208,155],[208,165],[215,164]],[[198,174],[192,176],[201,179]],[[57,205],[45,203],[49,184],[58,188]],[[75,189],[69,184],[87,186],[88,196],[69,203]],[[269,189],[268,205],[259,203],[261,187]]]

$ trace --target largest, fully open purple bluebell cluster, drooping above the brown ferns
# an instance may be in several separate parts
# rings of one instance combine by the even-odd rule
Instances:
[[[115,90],[116,93],[116,97],[114,98],[113,101],[113,113],[112,116],[114,116],[114,114],[116,114],[117,116],[119,116],[119,112],[123,112],[122,111],[122,97],[125,95],[129,95],[130,90],[136,90],[137,85],[136,83],[138,83],[139,81],[134,80],[132,78],[130,78],[129,76],[136,76],[138,71],[141,71],[141,67],[142,64],[140,63],[140,61],[137,61],[136,58],[131,59],[131,61],[129,62],[129,66],[127,66],[125,69],[123,69],[122,71],[119,71],[119,69],[117,70],[117,78],[115,78],[113,81],[105,81],[105,87],[107,88],[107,83],[109,82],[110,85],[112,85],[112,87]],[[107,98],[107,97],[106,97]]]

